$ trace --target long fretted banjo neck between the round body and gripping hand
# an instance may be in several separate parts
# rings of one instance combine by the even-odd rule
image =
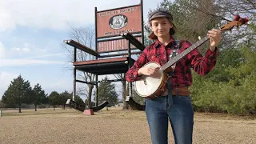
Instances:
[[[182,53],[178,54],[174,58],[171,58],[170,61],[166,62],[163,66],[161,66],[160,70],[162,71],[170,71],[170,66],[173,66],[174,63],[178,62],[180,59],[186,56],[186,54],[189,54],[194,49],[198,48],[198,46],[201,46],[203,43],[205,43],[207,40],[209,40],[208,37],[200,39],[198,42],[195,42],[192,46],[187,48],[186,50],[182,51]]]

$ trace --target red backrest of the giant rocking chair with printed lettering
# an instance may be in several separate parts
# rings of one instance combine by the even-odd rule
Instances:
[[[129,50],[129,41],[121,34],[130,33],[143,42],[142,1],[138,5],[97,11],[95,7],[95,39],[98,54]],[[138,49],[130,45],[130,49]]]

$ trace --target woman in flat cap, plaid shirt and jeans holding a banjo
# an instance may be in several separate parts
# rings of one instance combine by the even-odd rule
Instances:
[[[150,14],[149,23],[152,30],[149,38],[154,40],[154,43],[146,46],[134,62],[134,66],[126,72],[127,82],[136,82],[145,77],[157,78],[161,71],[160,66],[170,61],[170,56],[175,50],[181,53],[191,46],[191,43],[186,40],[179,42],[174,40],[173,35],[177,29],[169,11],[155,10]],[[221,30],[209,30],[207,37],[210,38],[210,46],[206,54],[202,56],[197,49],[186,54],[175,63],[174,70],[168,73],[166,89],[161,94],[146,98],[146,118],[153,144],[168,143],[168,119],[172,126],[175,143],[192,143],[194,111],[188,90],[192,84],[190,69],[206,75],[214,68],[218,55],[216,46],[221,41],[221,34]],[[156,62],[159,66],[144,66],[149,62]],[[145,80],[144,84],[149,85]],[[151,87],[153,86],[154,82]]]

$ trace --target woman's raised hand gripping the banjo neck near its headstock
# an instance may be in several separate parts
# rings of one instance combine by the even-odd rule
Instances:
[[[208,31],[207,36],[210,38],[210,50],[214,51],[218,43],[222,39],[222,31],[217,29],[212,29]]]

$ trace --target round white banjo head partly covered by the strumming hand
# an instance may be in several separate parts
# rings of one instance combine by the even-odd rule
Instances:
[[[149,62],[142,67],[150,66],[161,67],[157,62]],[[142,79],[134,82],[136,93],[144,98],[154,94],[158,90],[159,86],[161,86],[162,75],[162,70],[158,70],[158,76],[154,78],[151,76],[142,75]]]

